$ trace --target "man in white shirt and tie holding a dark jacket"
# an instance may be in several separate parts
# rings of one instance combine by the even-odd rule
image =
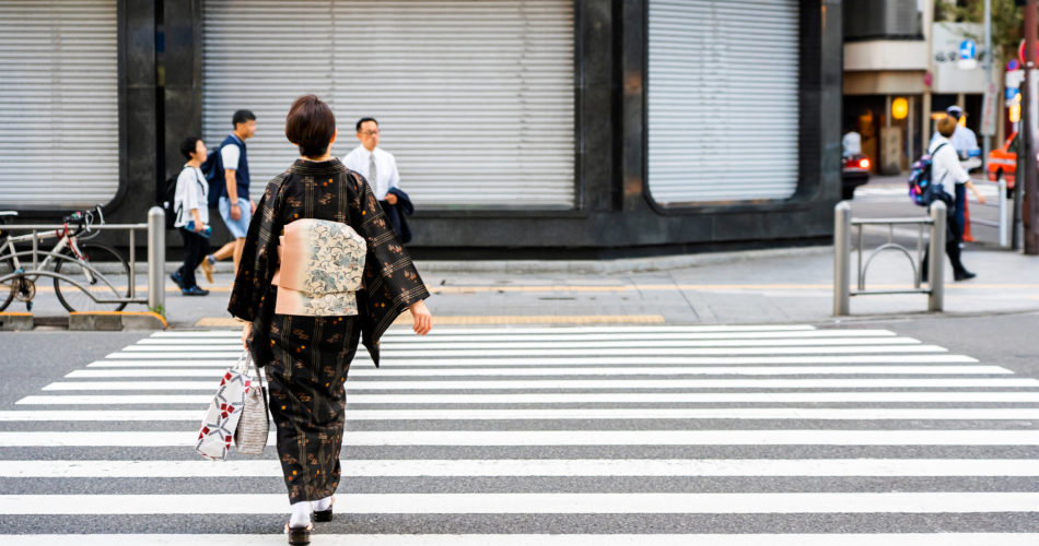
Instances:
[[[342,163],[367,180],[397,237],[409,242],[411,230],[405,216],[415,212],[415,207],[411,198],[400,189],[397,159],[394,154],[378,147],[380,130],[375,118],[359,119],[355,129],[361,145],[347,154]]]

